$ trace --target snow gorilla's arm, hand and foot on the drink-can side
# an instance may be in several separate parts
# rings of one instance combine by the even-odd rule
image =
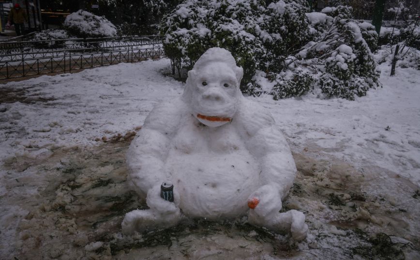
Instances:
[[[160,185],[171,179],[164,170],[164,163],[170,139],[179,127],[183,107],[180,99],[155,106],[130,144],[128,179],[137,193],[147,194],[150,209],[127,213],[121,223],[125,234],[171,227],[180,220],[179,193],[174,189],[174,202],[165,201],[160,197]]]

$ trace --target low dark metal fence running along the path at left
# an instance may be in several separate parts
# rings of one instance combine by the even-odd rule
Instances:
[[[0,79],[136,62],[164,56],[156,35],[0,43]]]

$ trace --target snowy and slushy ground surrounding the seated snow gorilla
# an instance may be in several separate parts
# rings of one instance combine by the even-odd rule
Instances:
[[[298,166],[285,209],[308,238],[195,220],[135,237],[124,153],[156,102],[182,93],[169,60],[42,76],[0,87],[1,259],[420,258],[420,72],[381,65],[356,101],[256,98]]]

